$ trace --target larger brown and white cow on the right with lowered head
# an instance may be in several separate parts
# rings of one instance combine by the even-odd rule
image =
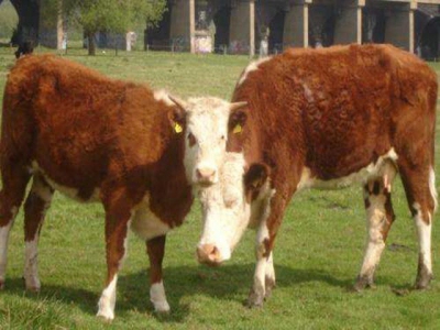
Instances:
[[[429,285],[437,77],[427,64],[391,45],[289,50],[251,64],[232,100],[246,101],[249,108],[231,112],[227,151],[240,154],[245,166],[265,164],[270,179],[255,180],[248,173],[244,185],[237,182],[227,189],[245,197],[232,206],[241,211],[234,217],[223,209],[226,217],[204,218],[200,262],[229,258],[246,226],[257,226],[249,304],[262,305],[275,284],[272,251],[293,195],[358,182],[364,190],[367,243],[355,289],[371,286],[395,219],[391,193],[398,173],[418,231],[416,288]]]

